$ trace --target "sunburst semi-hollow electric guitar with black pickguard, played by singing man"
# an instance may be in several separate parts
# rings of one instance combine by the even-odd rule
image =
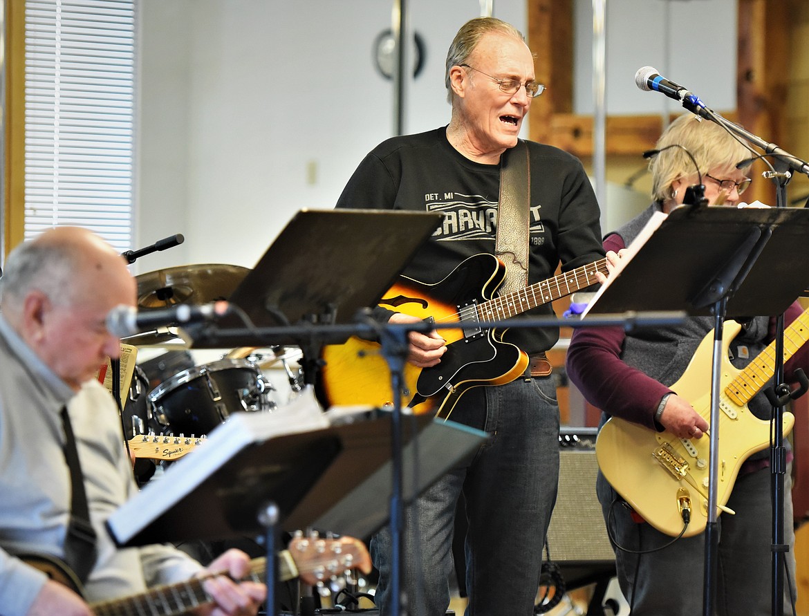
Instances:
[[[470,388],[515,380],[525,372],[527,354],[502,341],[506,329],[481,327],[481,323],[508,319],[595,285],[596,272],[608,274],[607,259],[498,297],[495,292],[506,276],[506,266],[494,255],[472,255],[434,284],[400,276],[379,306],[460,326],[439,332],[447,340],[447,352],[438,365],[424,369],[409,362],[405,365],[403,403],[416,412],[434,409],[446,419]],[[319,393],[327,406],[393,403],[390,371],[379,344],[354,336],[345,344],[324,347],[322,359]]]

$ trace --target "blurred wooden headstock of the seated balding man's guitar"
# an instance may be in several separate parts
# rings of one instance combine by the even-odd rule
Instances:
[[[371,555],[365,544],[353,537],[321,538],[297,534],[287,546],[301,580],[315,585],[349,569],[371,572]]]

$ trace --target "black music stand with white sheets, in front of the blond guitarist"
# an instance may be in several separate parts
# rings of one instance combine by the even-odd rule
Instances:
[[[654,229],[654,225],[659,226]],[[719,355],[726,317],[782,314],[809,283],[806,209],[681,206],[655,219],[629,246],[620,272],[587,314],[685,310],[714,317],[709,476],[718,476]],[[718,551],[717,486],[709,482],[705,614],[713,613]]]

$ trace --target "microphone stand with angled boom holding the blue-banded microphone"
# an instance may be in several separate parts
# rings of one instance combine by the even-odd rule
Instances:
[[[761,137],[750,133],[743,129],[739,124],[735,124],[730,120],[720,116],[717,112],[706,108],[699,99],[684,99],[683,107],[688,111],[696,113],[698,116],[711,120],[719,124],[722,128],[726,129],[729,133],[733,133],[742,137],[753,146],[757,146],[765,150],[764,156],[770,156],[775,159],[775,168],[772,171],[765,171],[763,174],[765,178],[772,179],[776,186],[776,207],[786,207],[786,185],[789,184],[792,178],[792,172],[803,173],[809,175],[809,163],[790,154],[786,150],[777,146],[774,143],[765,141]],[[807,202],[809,203],[809,202]],[[784,447],[783,437],[783,422],[784,422],[784,406],[789,399],[797,399],[809,388],[809,382],[803,375],[803,371],[798,375],[801,385],[795,391],[790,391],[789,387],[784,382],[784,314],[779,314],[776,321],[776,347],[775,347],[775,371],[773,374],[773,390],[765,391],[769,402],[773,405],[773,445],[770,453],[770,473],[772,474],[771,492],[773,500],[773,544],[772,544],[772,577],[773,577],[773,602],[772,613],[775,616],[780,616],[784,613],[784,571],[786,568],[785,554],[790,551],[790,546],[784,543],[784,479],[786,475],[786,448]],[[778,395],[776,395],[777,392]],[[711,431],[713,437],[713,430]],[[713,445],[713,442],[712,442]],[[711,458],[714,458],[714,448],[711,447]],[[714,460],[711,460],[712,464]],[[714,466],[711,466],[714,469]],[[716,485],[714,482],[713,473],[711,474],[711,481],[709,486],[709,495],[714,497],[716,494]],[[709,507],[710,510],[710,507]],[[715,513],[714,513],[715,517]],[[709,524],[710,526],[710,524]],[[705,538],[705,616],[713,613],[713,607],[709,599],[710,596],[710,581],[713,576],[711,571],[714,570],[714,550]]]

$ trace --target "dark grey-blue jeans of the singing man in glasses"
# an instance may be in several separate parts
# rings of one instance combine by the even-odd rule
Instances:
[[[463,406],[461,406],[463,404]],[[539,587],[545,533],[559,476],[559,407],[553,378],[519,378],[477,387],[451,419],[489,440],[451,470],[404,515],[400,614],[443,616],[450,602],[455,504],[466,500],[468,616],[530,616]],[[388,527],[371,540],[379,569],[376,605],[390,613]]]

